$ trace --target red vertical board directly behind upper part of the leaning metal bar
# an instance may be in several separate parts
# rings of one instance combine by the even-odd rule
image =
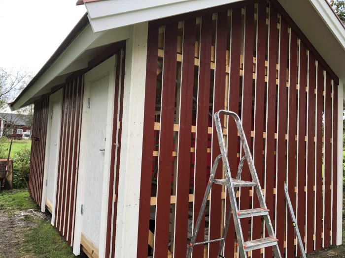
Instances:
[[[289,103],[288,103],[288,137],[287,137],[287,187],[292,203],[292,208],[296,214],[296,78],[297,78],[297,35],[290,32],[290,79],[289,79]],[[295,255],[294,248],[295,230],[292,222],[287,221],[287,258]]]

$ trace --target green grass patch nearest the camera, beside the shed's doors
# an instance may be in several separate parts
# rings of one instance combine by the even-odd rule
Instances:
[[[24,234],[20,248],[23,254],[35,254],[37,258],[75,258],[68,243],[49,222],[35,221],[37,227]]]

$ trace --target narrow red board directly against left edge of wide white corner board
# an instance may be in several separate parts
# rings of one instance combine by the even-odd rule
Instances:
[[[119,121],[120,123],[122,122],[122,111],[123,111],[123,88],[125,85],[125,53],[123,54],[122,57],[122,71],[121,71],[121,88],[120,90],[120,111],[119,111]],[[115,174],[115,196],[118,196],[118,185],[119,185],[119,172],[120,172],[120,154],[121,154],[121,135],[122,135],[122,129],[121,127],[119,128],[119,136],[118,136],[118,149],[117,149],[117,160],[116,160],[116,174]],[[114,222],[113,222],[113,238],[112,238],[112,257],[114,258],[115,256],[115,232],[116,232],[116,214],[117,214],[117,201],[115,202],[114,205]]]

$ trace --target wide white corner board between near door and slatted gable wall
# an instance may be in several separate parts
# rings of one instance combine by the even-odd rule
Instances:
[[[115,257],[137,257],[147,29],[132,26],[126,44]]]

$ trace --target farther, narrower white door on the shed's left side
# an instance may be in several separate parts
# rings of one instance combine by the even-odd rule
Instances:
[[[61,130],[62,90],[49,98],[48,128],[46,139],[45,170],[43,180],[42,209],[45,206],[54,215],[56,201],[56,184],[59,160],[59,143]],[[54,223],[54,216],[52,216]]]

